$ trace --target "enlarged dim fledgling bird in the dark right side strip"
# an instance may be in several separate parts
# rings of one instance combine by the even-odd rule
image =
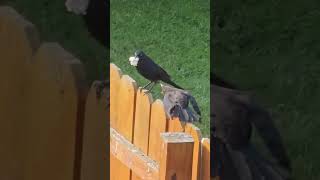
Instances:
[[[270,113],[247,91],[211,74],[211,174],[226,180],[289,180],[291,164]],[[251,142],[256,129],[270,152]]]

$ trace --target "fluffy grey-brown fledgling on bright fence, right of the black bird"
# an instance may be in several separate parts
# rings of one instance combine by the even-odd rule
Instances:
[[[161,84],[163,104],[169,118],[178,117],[184,122],[200,121],[201,112],[193,96],[187,91]],[[192,104],[194,111],[189,107]]]

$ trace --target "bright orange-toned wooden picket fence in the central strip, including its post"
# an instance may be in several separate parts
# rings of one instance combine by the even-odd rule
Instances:
[[[110,64],[110,179],[209,180],[210,142]]]

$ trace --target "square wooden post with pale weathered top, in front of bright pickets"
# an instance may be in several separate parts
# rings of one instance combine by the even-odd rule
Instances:
[[[160,180],[191,180],[194,141],[186,133],[161,133]]]

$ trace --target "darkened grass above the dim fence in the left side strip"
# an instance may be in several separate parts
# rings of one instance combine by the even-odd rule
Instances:
[[[33,23],[43,41],[58,42],[79,58],[85,66],[90,81],[105,79],[107,75],[107,50],[87,32],[80,16],[67,12],[64,1],[50,0],[0,0]]]

